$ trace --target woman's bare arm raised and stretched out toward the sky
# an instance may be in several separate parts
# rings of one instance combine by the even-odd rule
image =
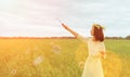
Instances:
[[[72,28],[69,28],[67,25],[63,24],[62,23],[62,26],[68,30],[70,34],[73,34],[77,39],[83,41],[83,42],[87,42],[87,39],[82,36],[80,36],[79,34],[77,34],[76,31],[74,31]]]

